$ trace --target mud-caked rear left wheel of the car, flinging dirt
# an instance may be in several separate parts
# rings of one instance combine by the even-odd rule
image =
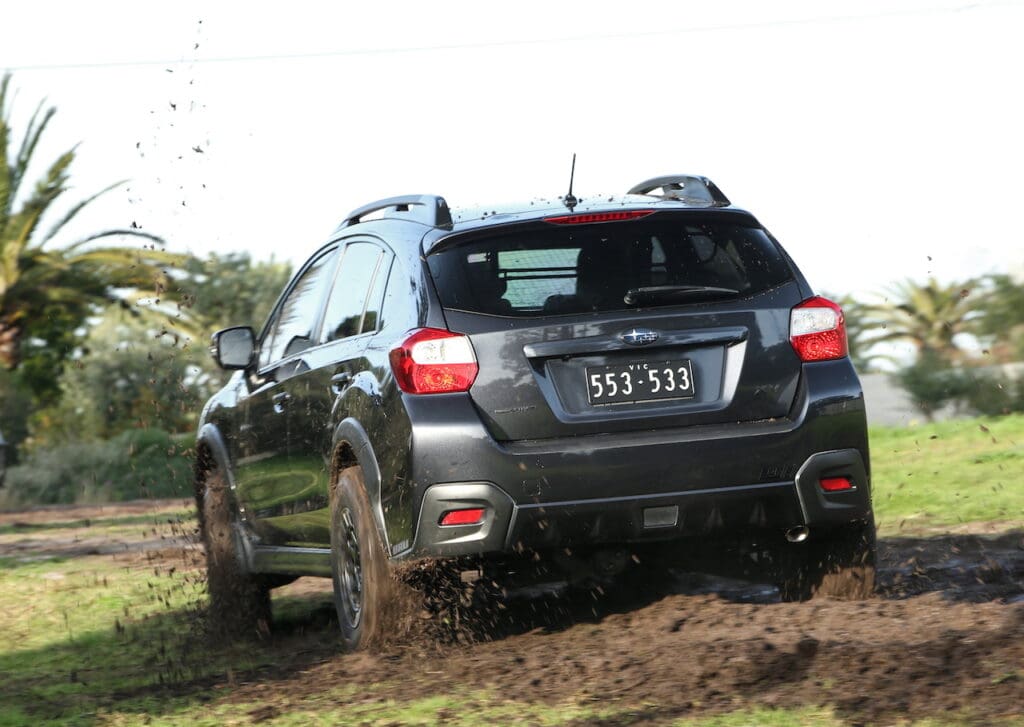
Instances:
[[[381,641],[391,573],[374,523],[361,467],[338,472],[331,499],[331,574],[342,644],[365,649]]]

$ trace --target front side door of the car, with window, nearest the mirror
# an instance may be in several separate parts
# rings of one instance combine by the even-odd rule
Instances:
[[[247,522],[266,545],[287,541],[292,494],[301,486],[289,451],[292,402],[287,383],[307,368],[302,353],[315,345],[324,296],[336,262],[337,248],[328,249],[295,276],[264,327],[257,368],[246,378],[237,498]]]

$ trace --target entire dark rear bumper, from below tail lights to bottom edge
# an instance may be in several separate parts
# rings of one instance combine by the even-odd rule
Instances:
[[[501,444],[468,399],[411,411],[416,534],[393,555],[579,548],[863,519],[870,479],[859,382],[848,361],[810,369],[793,415],[771,422]],[[439,412],[445,421],[437,422]],[[836,476],[853,487],[823,491],[820,479]],[[447,510],[470,507],[485,509],[481,523],[438,524]]]

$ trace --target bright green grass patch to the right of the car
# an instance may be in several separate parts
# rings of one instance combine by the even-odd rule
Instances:
[[[1024,525],[1024,415],[872,427],[883,534],[999,521]]]

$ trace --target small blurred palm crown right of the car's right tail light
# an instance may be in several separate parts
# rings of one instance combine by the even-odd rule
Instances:
[[[885,303],[867,306],[876,327],[870,342],[906,341],[919,353],[956,359],[961,351],[953,339],[973,332],[979,315],[970,297],[974,286],[975,281],[944,286],[935,279],[891,286]]]

